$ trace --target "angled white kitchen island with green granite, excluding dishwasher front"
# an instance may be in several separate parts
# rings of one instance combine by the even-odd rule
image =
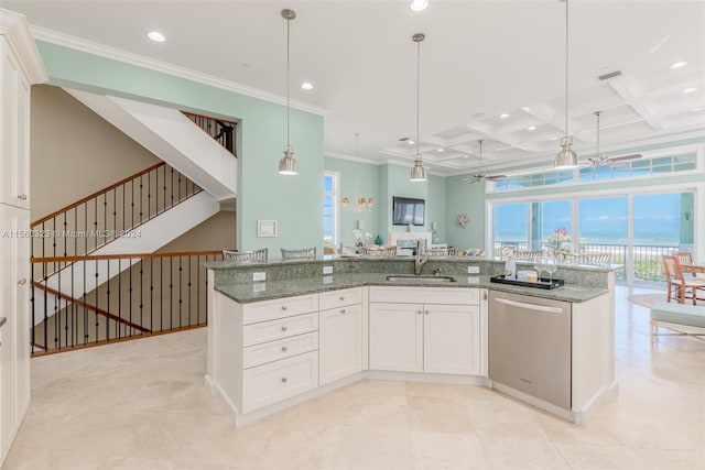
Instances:
[[[492,283],[503,271],[492,260],[431,260],[424,274],[443,277],[436,280],[413,276],[413,264],[404,258],[207,263],[205,381],[232,422],[247,424],[360,379],[489,386],[578,424],[617,393],[614,266],[561,266],[555,277],[565,285],[542,289]],[[567,361],[566,400],[544,400],[532,380],[514,386],[492,380],[490,291],[568,306],[567,349],[549,354]]]

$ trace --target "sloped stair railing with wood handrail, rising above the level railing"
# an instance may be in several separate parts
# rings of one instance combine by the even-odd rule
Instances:
[[[203,189],[164,162],[31,223],[32,256],[90,254]]]

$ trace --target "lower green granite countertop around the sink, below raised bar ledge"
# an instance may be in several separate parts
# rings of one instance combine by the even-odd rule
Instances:
[[[491,283],[490,276],[487,275],[453,275],[456,282],[453,283],[419,283],[409,282],[390,282],[387,281],[390,273],[358,273],[358,274],[335,274],[329,276],[303,277],[286,281],[258,282],[228,284],[216,286],[215,289],[230,297],[231,299],[247,304],[251,302],[271,300],[282,297],[292,297],[296,295],[315,294],[326,291],[335,291],[339,288],[359,287],[365,285],[381,286],[413,286],[413,287],[481,287],[494,291],[511,292],[517,294],[530,295],[533,297],[552,298],[565,302],[586,302],[592,298],[607,294],[606,288],[586,287],[579,285],[563,285],[554,289],[543,289],[534,287],[523,287],[508,284]]]

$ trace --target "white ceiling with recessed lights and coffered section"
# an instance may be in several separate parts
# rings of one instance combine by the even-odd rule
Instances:
[[[564,133],[565,3],[556,0],[430,0],[423,12],[406,0],[2,7],[24,13],[37,39],[196,70],[279,102],[286,95],[280,11],[291,8],[292,99],[325,110],[332,156],[411,165],[416,32],[426,35],[420,147],[433,173],[477,172],[480,139],[485,170],[547,163]],[[152,30],[166,41],[149,41]],[[705,2],[571,0],[570,33],[568,131],[581,161],[595,155],[598,110],[600,149],[610,154],[705,135]],[[679,62],[687,65],[671,68]]]

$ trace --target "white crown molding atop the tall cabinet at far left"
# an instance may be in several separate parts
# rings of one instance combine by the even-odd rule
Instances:
[[[23,14],[0,9],[0,34],[7,37],[31,84],[48,81],[42,56]]]

